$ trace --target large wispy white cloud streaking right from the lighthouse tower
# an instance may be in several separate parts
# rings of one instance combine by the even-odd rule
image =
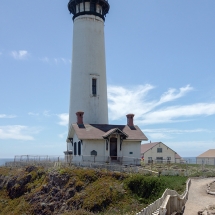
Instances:
[[[108,87],[109,117],[118,120],[128,113],[135,114],[137,124],[170,123],[191,120],[191,117],[215,114],[215,103],[168,106],[168,102],[185,96],[193,90],[190,85],[169,89],[156,100],[148,100],[148,93],[154,86],[144,85],[128,89],[120,86]],[[159,108],[166,103],[166,107]],[[153,109],[156,110],[154,111]]]

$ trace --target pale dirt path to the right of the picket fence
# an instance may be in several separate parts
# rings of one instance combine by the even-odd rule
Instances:
[[[191,179],[190,192],[183,215],[197,215],[198,211],[215,204],[215,196],[206,192],[207,184],[214,180],[215,178]]]

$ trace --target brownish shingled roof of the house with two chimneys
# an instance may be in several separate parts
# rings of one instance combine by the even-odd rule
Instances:
[[[109,124],[84,124],[81,126],[78,124],[72,124],[68,138],[72,137],[73,133],[75,132],[80,140],[100,140],[104,139],[115,131],[122,132],[122,134],[126,137],[126,140],[148,140],[138,126],[129,127],[128,125]]]

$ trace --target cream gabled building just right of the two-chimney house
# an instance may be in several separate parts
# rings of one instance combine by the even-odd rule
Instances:
[[[141,156],[144,163],[180,163],[181,157],[162,142],[141,145]]]

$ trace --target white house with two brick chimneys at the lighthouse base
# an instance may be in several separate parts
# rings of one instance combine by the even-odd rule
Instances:
[[[127,115],[127,125],[84,124],[84,112],[76,115],[77,123],[70,126],[65,152],[73,152],[72,162],[140,164],[141,141],[148,139],[133,125],[133,114]]]

